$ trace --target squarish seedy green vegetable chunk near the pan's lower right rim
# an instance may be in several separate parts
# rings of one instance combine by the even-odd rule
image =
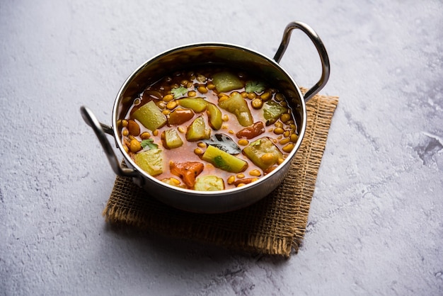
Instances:
[[[283,158],[282,152],[268,137],[262,137],[243,149],[243,154],[260,169],[267,169]]]

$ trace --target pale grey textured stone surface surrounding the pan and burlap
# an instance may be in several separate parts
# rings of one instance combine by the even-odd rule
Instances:
[[[441,1],[1,1],[0,295],[442,295]],[[146,59],[192,42],[272,57],[321,36],[340,96],[304,244],[287,261],[114,229],[110,123]],[[320,76],[294,32],[282,67]]]

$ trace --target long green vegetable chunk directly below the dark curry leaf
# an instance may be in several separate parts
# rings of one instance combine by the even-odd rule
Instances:
[[[207,147],[202,159],[214,164],[214,166],[219,169],[231,173],[240,173],[248,167],[248,163],[243,159],[239,159],[236,156],[210,145]]]

